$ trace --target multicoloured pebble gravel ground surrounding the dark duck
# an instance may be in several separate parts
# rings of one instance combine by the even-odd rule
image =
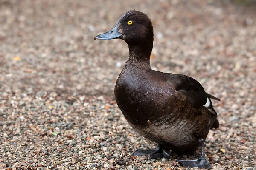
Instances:
[[[152,68],[194,77],[221,99],[206,144],[213,169],[255,170],[256,4],[236,2],[0,0],[0,169],[180,170],[177,159],[200,156],[130,156],[156,144],[114,100],[128,47],[93,37],[137,9],[154,24]]]

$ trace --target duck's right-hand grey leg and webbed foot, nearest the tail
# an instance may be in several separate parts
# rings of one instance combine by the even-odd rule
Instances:
[[[206,160],[204,155],[204,139],[199,140],[201,147],[201,158],[196,160],[178,160],[184,167],[202,167],[205,169],[211,169],[212,165]]]

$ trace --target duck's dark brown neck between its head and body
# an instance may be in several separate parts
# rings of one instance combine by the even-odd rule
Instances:
[[[129,45],[129,59],[125,63],[126,67],[136,67],[142,70],[151,69],[150,54],[153,45]]]

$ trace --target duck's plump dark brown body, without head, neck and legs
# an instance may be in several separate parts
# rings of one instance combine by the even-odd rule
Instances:
[[[202,86],[180,74],[123,70],[115,97],[137,133],[171,150],[193,150],[198,136],[205,139],[217,121],[217,114],[202,107],[208,99]]]

